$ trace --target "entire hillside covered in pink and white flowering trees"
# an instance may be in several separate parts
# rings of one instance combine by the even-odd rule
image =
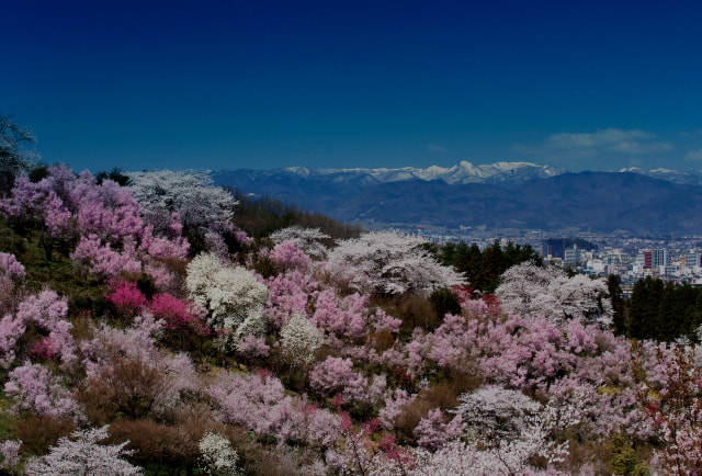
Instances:
[[[694,347],[620,336],[612,290],[200,172],[15,170],[1,471],[695,474]]]

